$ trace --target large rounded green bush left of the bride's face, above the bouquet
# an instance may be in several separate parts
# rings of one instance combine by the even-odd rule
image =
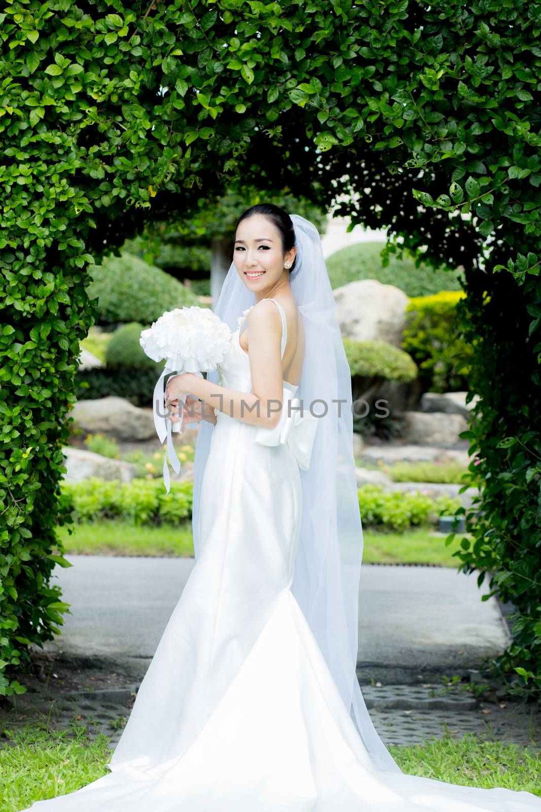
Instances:
[[[91,274],[88,296],[97,296],[100,323],[152,324],[164,310],[200,304],[178,279],[130,253],[105,257]]]

